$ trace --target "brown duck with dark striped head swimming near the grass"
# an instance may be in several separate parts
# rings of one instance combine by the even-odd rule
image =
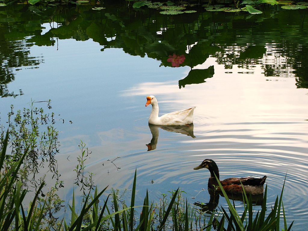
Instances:
[[[194,168],[195,170],[200,168],[207,168],[211,173],[211,177],[209,178],[208,187],[209,188],[217,188],[220,191],[218,186],[218,182],[215,178],[215,175],[219,179],[219,170],[217,164],[214,160],[205,159],[202,163]],[[241,194],[242,193],[242,184],[244,186],[245,192],[250,193],[252,195],[263,193],[263,185],[265,183],[266,176],[262,178],[254,178],[254,177],[232,177],[225,180],[220,180],[222,187],[224,188],[226,193],[234,193]]]

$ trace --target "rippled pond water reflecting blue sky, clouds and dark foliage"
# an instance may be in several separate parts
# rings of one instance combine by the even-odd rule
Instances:
[[[62,198],[71,199],[82,140],[99,188],[130,189],[137,169],[139,204],[146,189],[157,201],[178,187],[190,203],[208,202],[209,171],[193,170],[204,159],[221,179],[267,175],[268,208],[286,176],[287,222],[307,227],[307,10],[91,8],[0,7],[1,123],[10,104],[52,100]],[[185,57],[179,67],[173,54]],[[148,125],[148,95],[160,114],[196,106],[193,126]]]

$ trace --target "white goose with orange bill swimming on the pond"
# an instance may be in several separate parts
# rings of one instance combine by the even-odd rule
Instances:
[[[193,123],[193,110],[196,107],[191,107],[182,111],[174,111],[168,114],[158,116],[158,102],[155,96],[147,96],[147,103],[145,106],[152,104],[152,111],[149,117],[149,124],[155,125],[186,125]]]

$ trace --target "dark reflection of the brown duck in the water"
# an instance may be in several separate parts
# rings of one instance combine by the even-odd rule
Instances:
[[[201,203],[201,202],[197,201],[197,202],[194,203],[194,205],[200,207],[200,210],[202,212],[211,214],[214,211],[214,209],[216,209],[216,207],[218,205],[219,197],[220,196],[224,197],[224,196],[221,192],[218,192],[217,190],[214,190],[212,188],[208,188],[208,192],[209,192],[209,195],[210,195],[209,202],[207,202],[207,203],[202,202]],[[241,201],[244,204],[243,195],[227,193],[227,196],[230,200]],[[257,194],[257,195],[251,195],[251,194],[247,195],[248,198],[250,196],[251,196],[252,205],[259,205],[259,206],[262,205],[263,197],[264,197],[263,193],[260,193],[260,194]]]

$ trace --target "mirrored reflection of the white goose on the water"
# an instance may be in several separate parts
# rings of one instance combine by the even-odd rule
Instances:
[[[152,133],[152,140],[149,144],[146,144],[146,146],[148,147],[148,151],[156,149],[158,136],[159,136],[159,130],[158,130],[159,128],[164,129],[168,132],[181,133],[181,134],[196,138],[196,136],[193,135],[193,123],[183,125],[183,126],[175,126],[175,125],[166,126],[166,125],[149,124],[149,128]]]

